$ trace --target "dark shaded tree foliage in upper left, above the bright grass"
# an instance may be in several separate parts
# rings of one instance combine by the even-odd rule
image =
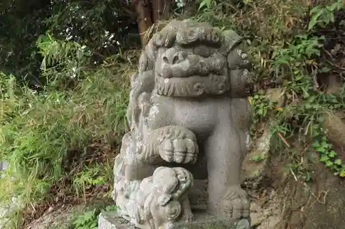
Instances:
[[[0,72],[30,87],[44,85],[36,41],[46,32],[86,45],[94,51],[92,60],[102,63],[120,47],[128,50],[139,43],[135,17],[129,1],[1,1]]]

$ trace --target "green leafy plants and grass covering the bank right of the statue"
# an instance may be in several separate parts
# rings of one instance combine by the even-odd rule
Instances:
[[[251,98],[255,124],[270,123],[278,151],[288,153],[294,145],[311,143],[308,145],[319,153],[319,160],[335,175],[344,177],[345,163],[328,142],[324,113],[344,109],[345,94],[326,94],[317,83],[319,74],[331,73],[330,65],[318,61],[324,55],[327,38],[317,31],[336,21],[336,12],[345,8],[342,1],[326,1],[313,8],[297,0],[236,2],[199,1],[196,19],[251,38],[247,48],[255,62],[258,88]],[[306,17],[310,20],[306,21]],[[282,107],[266,96],[267,87],[282,88]],[[298,153],[293,155],[299,157]],[[310,180],[310,172],[302,166],[295,164],[290,168]]]

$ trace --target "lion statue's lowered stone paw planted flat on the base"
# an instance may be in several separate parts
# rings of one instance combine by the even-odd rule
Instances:
[[[240,186],[229,187],[224,197],[217,204],[217,213],[232,219],[248,218],[249,210],[250,201],[248,195]]]

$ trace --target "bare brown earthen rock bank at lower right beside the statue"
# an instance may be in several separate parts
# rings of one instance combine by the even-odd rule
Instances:
[[[270,89],[266,96],[277,102],[277,107],[284,106],[284,89]],[[293,105],[297,102],[303,101],[296,100]],[[335,146],[337,156],[344,163],[345,113],[326,111],[323,116],[328,141]],[[344,178],[333,175],[324,163],[319,162],[320,155],[306,151],[305,146],[295,149],[299,154],[294,158],[286,152],[269,152],[268,135],[264,131],[257,139],[243,164],[244,186],[253,197],[250,204],[252,226],[256,229],[345,228]],[[265,157],[253,162],[254,157],[261,155]],[[299,157],[300,162],[295,159]],[[294,169],[293,172],[289,168],[291,165],[298,166],[297,171]],[[306,175],[307,171],[311,181],[304,182],[300,176]]]

